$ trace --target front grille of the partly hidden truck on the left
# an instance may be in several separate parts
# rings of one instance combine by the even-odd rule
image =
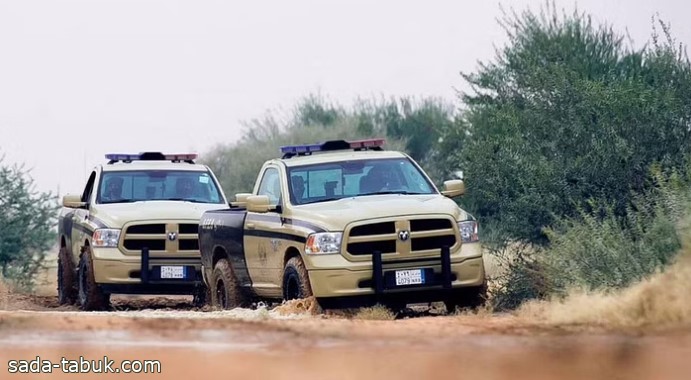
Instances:
[[[133,254],[144,248],[154,252],[198,252],[198,228],[196,223],[134,224],[125,228],[122,246]]]

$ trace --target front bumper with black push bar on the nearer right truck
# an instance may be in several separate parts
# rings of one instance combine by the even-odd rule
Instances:
[[[443,294],[445,290],[477,287],[485,282],[485,269],[479,256],[452,255],[448,249],[439,257],[412,260],[382,260],[373,254],[372,262],[363,269],[317,269],[309,271],[312,292],[317,298],[330,297],[395,297],[414,293]],[[422,269],[427,280],[424,284],[396,286],[395,270]],[[441,297],[441,296],[440,296]],[[429,299],[427,295],[424,298]]]

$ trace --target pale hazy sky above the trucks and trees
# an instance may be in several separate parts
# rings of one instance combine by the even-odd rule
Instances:
[[[555,0],[650,40],[691,42],[686,0]],[[543,0],[0,0],[0,157],[81,192],[108,152],[194,152],[320,94],[439,97],[505,43],[500,4]]]

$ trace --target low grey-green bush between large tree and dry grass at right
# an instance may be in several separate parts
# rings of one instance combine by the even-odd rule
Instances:
[[[505,270],[496,279],[497,309],[526,300],[564,296],[574,288],[620,289],[667,266],[681,248],[681,221],[691,216],[689,182],[654,171],[644,195],[633,196],[625,216],[590,203],[573,218],[547,228],[546,247],[510,245],[495,249]]]

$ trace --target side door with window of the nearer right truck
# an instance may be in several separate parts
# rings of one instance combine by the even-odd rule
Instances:
[[[274,166],[262,173],[256,195],[266,195],[271,204],[282,205],[281,174]],[[264,296],[280,296],[280,279],[273,278],[277,257],[282,256],[277,247],[282,229],[277,212],[248,212],[245,222],[245,259],[255,290]],[[279,259],[280,261],[280,259]]]

